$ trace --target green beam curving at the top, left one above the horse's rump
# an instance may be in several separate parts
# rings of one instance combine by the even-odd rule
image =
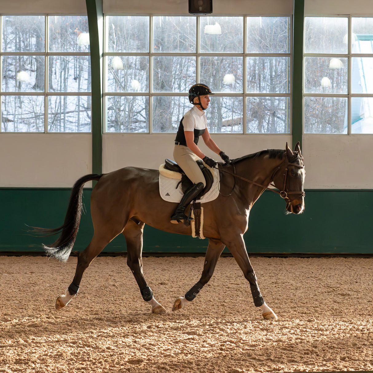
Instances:
[[[103,0],[86,0],[92,75],[92,172],[102,173]]]

